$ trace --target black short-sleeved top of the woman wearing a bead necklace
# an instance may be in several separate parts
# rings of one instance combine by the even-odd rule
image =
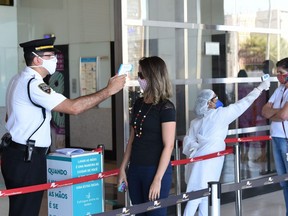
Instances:
[[[141,110],[141,113],[139,113],[139,110]],[[146,115],[146,118],[144,115]],[[158,166],[164,147],[161,124],[175,121],[175,106],[170,100],[153,105],[152,103],[144,103],[143,98],[137,99],[133,106],[130,123],[135,132],[130,164]]]

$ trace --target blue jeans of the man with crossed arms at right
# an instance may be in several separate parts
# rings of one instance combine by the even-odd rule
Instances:
[[[272,149],[275,161],[275,167],[278,175],[284,175],[288,173],[288,141],[286,138],[272,137]],[[286,204],[286,215],[288,216],[288,182],[280,182],[283,188],[285,204]]]

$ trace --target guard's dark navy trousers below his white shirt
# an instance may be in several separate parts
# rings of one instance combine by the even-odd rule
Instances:
[[[25,151],[12,147],[2,153],[1,171],[7,189],[46,183],[46,154],[33,152],[31,162],[25,162],[24,155]],[[43,193],[9,196],[9,216],[39,216]]]

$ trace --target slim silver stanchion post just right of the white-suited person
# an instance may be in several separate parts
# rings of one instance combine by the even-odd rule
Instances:
[[[240,176],[240,151],[239,151],[239,143],[233,146],[234,148],[234,181],[235,183],[241,182]],[[235,210],[236,216],[242,216],[242,191],[235,191]]]

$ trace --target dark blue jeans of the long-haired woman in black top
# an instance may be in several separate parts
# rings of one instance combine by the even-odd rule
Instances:
[[[132,204],[149,202],[149,189],[157,171],[157,166],[130,165],[127,173],[128,190]],[[168,166],[161,182],[160,199],[167,198],[172,183],[172,167]],[[167,208],[137,214],[137,216],[166,216]]]

